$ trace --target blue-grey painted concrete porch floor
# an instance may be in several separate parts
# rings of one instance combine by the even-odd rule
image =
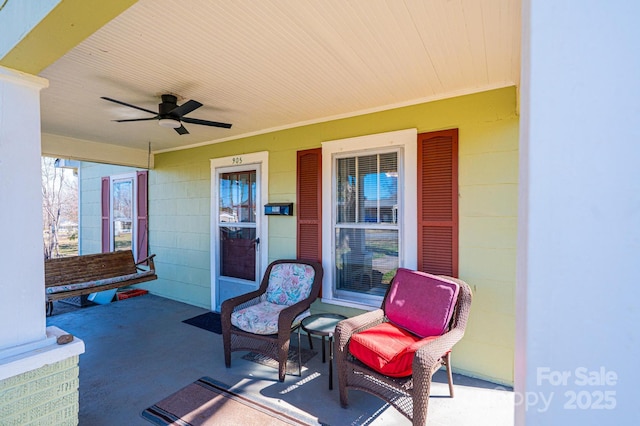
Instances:
[[[66,311],[66,312],[65,312]],[[393,407],[365,392],[350,391],[340,407],[337,376],[328,389],[328,366],[318,353],[302,377],[242,359],[234,352],[225,368],[222,336],[182,321],[207,310],[154,295],[82,309],[60,309],[47,325],[84,340],[80,356],[80,425],[150,425],[140,413],[202,376],[250,392],[253,398],[302,410],[330,425],[409,425]],[[297,344],[297,336],[294,336]],[[314,349],[320,341],[314,341]],[[307,347],[306,339],[302,340]],[[455,355],[455,351],[454,351]],[[455,358],[453,360],[455,367]],[[429,425],[511,425],[513,391],[454,374],[455,398],[448,397],[446,374],[436,374],[429,402]]]

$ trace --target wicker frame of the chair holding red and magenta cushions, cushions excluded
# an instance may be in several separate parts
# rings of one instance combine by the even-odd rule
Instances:
[[[385,295],[381,309],[367,312],[341,321],[335,331],[335,354],[340,387],[340,404],[348,406],[348,389],[369,392],[393,405],[414,425],[424,425],[427,419],[427,406],[432,375],[444,366],[448,372],[449,393],[453,397],[453,380],[451,375],[451,348],[464,335],[469,309],[471,307],[471,290],[458,279],[444,278],[459,285],[457,301],[448,327],[444,326],[444,334],[437,338],[420,340],[419,349],[413,356],[412,372],[405,377],[390,377],[368,367],[356,359],[349,351],[349,343],[355,333],[388,322],[385,315],[385,301],[389,298],[389,290]],[[389,286],[391,288],[391,286]],[[429,307],[425,307],[429,309]],[[424,341],[424,343],[423,343]],[[411,361],[409,361],[411,362]]]

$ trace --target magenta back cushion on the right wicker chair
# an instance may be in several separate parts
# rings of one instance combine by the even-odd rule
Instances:
[[[440,336],[453,315],[460,286],[454,281],[398,268],[384,311],[389,321],[420,336]]]

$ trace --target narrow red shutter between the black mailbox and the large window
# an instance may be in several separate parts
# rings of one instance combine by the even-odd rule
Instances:
[[[322,261],[322,148],[298,151],[298,259]]]

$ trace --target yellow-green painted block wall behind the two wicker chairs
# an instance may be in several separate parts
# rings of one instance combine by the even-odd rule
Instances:
[[[418,133],[458,128],[459,275],[471,285],[474,301],[467,333],[454,351],[454,370],[512,384],[519,153],[516,97],[515,87],[508,87],[156,155],[155,168],[149,173],[149,242],[151,252],[157,254],[159,278],[143,287],[210,308],[212,158],[269,151],[269,202],[295,202],[298,150],[318,148],[323,141],[407,128],[417,128]],[[99,191],[97,181],[92,186]],[[99,202],[99,192],[95,199]],[[294,205],[294,215],[295,209]],[[99,238],[99,209],[92,208],[92,214],[97,215],[92,220]],[[83,218],[87,215],[82,212]],[[269,217],[268,221],[269,260],[295,257],[295,216]],[[353,314],[352,309],[318,302],[314,309]]]

